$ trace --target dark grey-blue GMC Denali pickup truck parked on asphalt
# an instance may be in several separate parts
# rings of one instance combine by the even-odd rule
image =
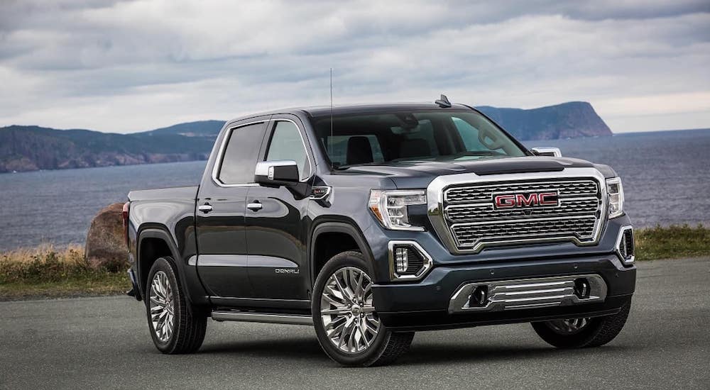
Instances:
[[[199,186],[128,197],[129,295],[166,354],[200,348],[207,317],[311,325],[349,366],[477,325],[596,347],[635,288],[613,169],[528,150],[445,96],[237,118]]]

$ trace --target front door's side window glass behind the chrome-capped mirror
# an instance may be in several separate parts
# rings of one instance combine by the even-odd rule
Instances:
[[[301,180],[310,176],[310,163],[300,132],[293,122],[278,121],[271,135],[266,153],[267,161],[293,160],[298,166]]]

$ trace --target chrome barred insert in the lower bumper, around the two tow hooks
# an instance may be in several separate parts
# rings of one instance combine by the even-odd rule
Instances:
[[[577,285],[581,281],[586,283],[586,291],[579,291]],[[484,301],[471,304],[471,295],[476,289],[484,289]],[[449,301],[449,313],[505,311],[603,302],[606,299],[606,292],[606,282],[597,274],[476,282],[464,284],[452,295]]]

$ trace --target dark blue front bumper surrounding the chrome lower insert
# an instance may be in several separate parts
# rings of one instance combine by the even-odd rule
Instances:
[[[449,304],[461,286],[471,282],[599,275],[606,284],[603,301],[570,306],[518,308],[503,311],[452,313]],[[585,255],[548,260],[439,265],[413,284],[375,284],[373,299],[383,323],[395,330],[432,330],[474,325],[543,321],[557,318],[607,316],[628,304],[635,289],[635,266],[624,266],[618,257]]]

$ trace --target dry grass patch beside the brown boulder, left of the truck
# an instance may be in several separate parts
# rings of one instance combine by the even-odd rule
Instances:
[[[125,272],[93,269],[78,245],[21,249],[0,255],[0,300],[120,294],[130,289]]]

